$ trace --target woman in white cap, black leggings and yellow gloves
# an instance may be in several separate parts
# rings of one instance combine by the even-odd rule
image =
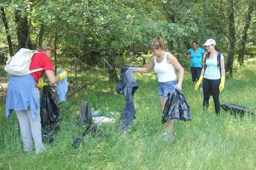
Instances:
[[[220,114],[219,94],[225,86],[225,59],[216,47],[214,39],[208,39],[205,44],[207,53],[204,56],[204,67],[201,72],[199,81],[196,83],[195,89],[198,89],[203,82],[203,107],[208,108],[209,96],[212,94],[214,98],[215,113]]]

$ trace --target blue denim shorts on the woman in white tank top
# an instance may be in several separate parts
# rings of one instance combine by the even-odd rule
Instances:
[[[168,93],[171,93],[175,90],[176,84],[177,81],[158,82],[159,98],[168,98]]]

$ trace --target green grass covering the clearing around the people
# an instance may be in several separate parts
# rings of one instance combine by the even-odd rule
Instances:
[[[221,104],[239,104],[256,113],[255,72],[255,61],[236,70],[220,94]],[[256,169],[255,119],[223,110],[217,117],[212,98],[204,111],[202,92],[192,89],[191,77],[185,74],[182,91],[192,108],[192,121],[175,122],[176,142],[164,143],[156,75],[136,73],[136,80],[140,87],[134,95],[136,120],[131,130],[115,131],[117,114],[116,123],[100,126],[99,135],[88,135],[88,142],[77,150],[71,143],[84,131],[77,126],[82,100],[103,115],[122,113],[125,99],[115,93],[115,83],[100,80],[61,104],[60,131],[42,154],[23,152],[16,115],[6,120],[1,101],[0,169]]]

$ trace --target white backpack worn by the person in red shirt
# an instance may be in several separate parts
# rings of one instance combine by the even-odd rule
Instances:
[[[14,56],[10,57],[10,59],[6,61],[4,70],[12,76],[25,76],[31,72],[44,70],[44,68],[29,70],[31,59],[34,53],[37,52],[38,51],[32,51],[27,48],[21,48]]]

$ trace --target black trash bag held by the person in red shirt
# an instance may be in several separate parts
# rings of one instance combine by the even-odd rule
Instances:
[[[49,85],[43,87],[40,102],[40,117],[42,125],[42,141],[52,142],[55,132],[59,129],[60,107]]]

